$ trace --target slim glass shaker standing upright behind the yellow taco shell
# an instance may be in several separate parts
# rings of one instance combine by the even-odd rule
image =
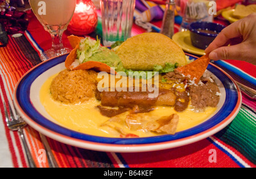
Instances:
[[[167,0],[160,33],[172,38],[174,35],[175,0]]]

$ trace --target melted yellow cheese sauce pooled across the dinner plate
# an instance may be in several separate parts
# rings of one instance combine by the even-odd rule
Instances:
[[[56,74],[57,75],[57,74]],[[100,101],[96,99],[90,99],[85,103],[77,105],[66,105],[59,101],[55,101],[51,94],[49,87],[53,78],[50,77],[42,86],[40,90],[40,101],[47,113],[55,120],[53,122],[60,124],[65,128],[69,128],[74,131],[82,132],[84,134],[104,136],[104,137],[119,137],[119,133],[108,126],[101,126],[102,123],[108,121],[108,117],[102,116],[97,109],[97,105],[100,105]],[[167,116],[176,113],[179,115],[179,124],[177,126],[177,132],[187,130],[194,127],[201,122],[204,122],[210,115],[216,111],[214,107],[207,107],[203,112],[195,111],[191,106],[182,113],[177,113],[174,107],[159,106],[154,111],[151,111],[152,115]],[[129,130],[126,128],[126,131]],[[146,137],[156,136],[155,132],[145,131],[131,131],[130,133]]]

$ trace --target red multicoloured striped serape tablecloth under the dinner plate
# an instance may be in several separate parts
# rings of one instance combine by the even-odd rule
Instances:
[[[28,12],[30,23],[26,32],[19,38],[9,36],[6,47],[0,48],[0,167],[28,167],[26,154],[18,133],[6,127],[3,102],[10,101],[15,84],[33,66],[39,64],[40,52],[50,48],[51,37],[43,30],[34,14]],[[100,24],[100,23],[99,23]],[[156,23],[160,24],[160,23]],[[157,25],[156,25],[157,27]],[[158,26],[159,28],[159,26]],[[100,31],[98,26],[96,36]],[[146,32],[134,24],[132,34]],[[64,46],[69,47],[68,32],[63,36]],[[255,89],[256,67],[235,60],[221,60],[218,66],[229,72],[235,80],[249,84]],[[243,76],[241,78],[240,76]],[[207,139],[182,147],[155,152],[114,153],[82,149],[48,139],[57,164],[60,167],[85,168],[169,168],[169,167],[255,167],[256,166],[256,105],[255,101],[242,94],[241,109],[224,130]],[[43,148],[37,131],[30,126],[25,136],[38,167],[48,167],[39,163],[38,152]],[[211,161],[211,151],[216,151],[216,160]]]

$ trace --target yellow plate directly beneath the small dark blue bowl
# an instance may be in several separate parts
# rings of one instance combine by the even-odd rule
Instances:
[[[202,56],[205,55],[204,49],[196,48],[192,45],[189,31],[177,32],[172,36],[172,40],[188,53]]]

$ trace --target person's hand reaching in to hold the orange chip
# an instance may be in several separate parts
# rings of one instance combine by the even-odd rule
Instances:
[[[212,60],[243,60],[256,65],[256,13],[224,28],[205,53],[210,53]]]

